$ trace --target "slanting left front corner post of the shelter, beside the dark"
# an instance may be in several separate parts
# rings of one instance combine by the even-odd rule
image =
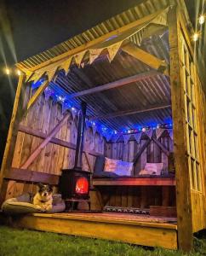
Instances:
[[[6,195],[8,182],[5,182],[4,174],[9,171],[11,167],[12,158],[14,155],[14,145],[17,137],[17,125],[20,120],[21,112],[22,112],[22,104],[23,104],[23,84],[24,84],[25,75],[20,74],[18,86],[16,89],[16,95],[14,100],[14,108],[11,116],[11,121],[9,125],[9,133],[7,137],[7,142],[3,154],[2,167],[0,172],[0,207],[4,201],[4,197]]]

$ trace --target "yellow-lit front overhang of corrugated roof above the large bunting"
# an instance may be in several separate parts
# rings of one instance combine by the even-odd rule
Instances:
[[[146,15],[151,15],[160,9],[165,9],[167,6],[169,6],[169,0],[147,0],[144,3],[140,3],[134,8],[128,9],[109,20],[100,23],[99,25],[90,28],[82,34],[54,46],[51,49],[47,49],[38,55],[31,56],[26,59],[26,61],[21,61],[19,64],[26,68],[35,67],[38,64],[41,64],[44,61],[49,61],[55,56],[61,55],[68,50],[75,49],[82,44],[93,41],[95,38],[100,38],[100,36],[125,26],[134,20],[139,20],[140,18],[145,17]],[[135,44],[140,43],[140,34],[134,35],[131,40]]]

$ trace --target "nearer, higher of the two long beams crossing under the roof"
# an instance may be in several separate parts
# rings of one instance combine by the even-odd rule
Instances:
[[[128,77],[125,79],[119,79],[112,83],[103,84],[103,85],[99,85],[99,86],[96,86],[96,87],[93,87],[93,88],[90,88],[87,90],[82,90],[82,91],[72,93],[71,95],[67,96],[67,99],[72,99],[72,98],[76,98],[76,97],[80,97],[80,96],[86,96],[86,95],[97,93],[97,92],[100,92],[103,90],[111,90],[111,89],[114,89],[114,88],[117,88],[117,87],[120,87],[120,86],[123,86],[126,84],[132,84],[134,82],[152,78],[154,76],[157,76],[158,74],[161,74],[161,73],[158,73],[157,71],[153,71],[153,70],[147,71],[145,73],[139,73],[139,74],[136,74],[134,76],[131,76],[131,77]]]

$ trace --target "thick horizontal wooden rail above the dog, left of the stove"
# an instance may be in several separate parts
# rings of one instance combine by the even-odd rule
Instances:
[[[5,178],[20,182],[49,183],[51,185],[58,185],[59,183],[59,175],[20,168],[11,168],[5,173]]]

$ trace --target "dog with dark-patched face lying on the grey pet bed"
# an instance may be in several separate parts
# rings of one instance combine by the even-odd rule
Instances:
[[[34,195],[32,203],[37,206],[38,209],[50,211],[52,209],[53,202],[53,187],[49,184],[38,183],[38,192]]]

